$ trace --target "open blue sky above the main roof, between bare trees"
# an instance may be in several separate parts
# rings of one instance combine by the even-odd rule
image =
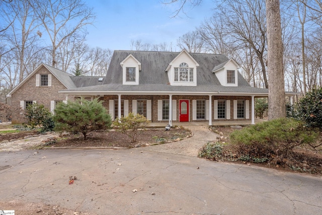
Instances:
[[[164,5],[160,0],[85,0],[94,9],[96,20],[89,26],[87,43],[91,47],[130,50],[131,40],[142,43],[173,43],[183,34],[195,30],[212,15],[214,3],[202,1],[200,6],[185,7],[187,16],[170,18],[178,5]]]

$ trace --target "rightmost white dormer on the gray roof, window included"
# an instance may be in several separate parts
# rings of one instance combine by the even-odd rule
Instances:
[[[234,60],[229,59],[212,69],[222,86],[238,87],[238,68],[240,65]]]

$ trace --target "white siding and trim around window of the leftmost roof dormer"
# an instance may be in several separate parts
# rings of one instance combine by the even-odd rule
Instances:
[[[141,63],[132,54],[130,54],[120,64],[123,68],[123,85],[138,85],[139,71],[141,70]],[[135,81],[126,81],[127,67],[135,68]]]

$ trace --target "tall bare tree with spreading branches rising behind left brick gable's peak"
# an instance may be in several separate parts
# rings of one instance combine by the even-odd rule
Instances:
[[[85,31],[95,16],[82,0],[28,0],[51,41],[52,66],[57,49],[71,35]]]

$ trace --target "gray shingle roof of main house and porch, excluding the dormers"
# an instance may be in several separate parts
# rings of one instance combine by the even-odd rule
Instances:
[[[200,64],[197,67],[197,86],[171,86],[168,85],[168,74],[165,71],[169,63],[180,52],[160,51],[122,51],[115,50],[107,71],[103,85],[90,86],[79,85],[80,88],[63,90],[68,92],[226,92],[226,93],[264,93],[267,89],[253,88],[238,73],[238,87],[224,87],[220,84],[216,75],[212,73],[213,68],[226,63],[229,59],[221,54],[190,53]],[[142,70],[139,71],[139,85],[123,85],[123,70],[120,62],[129,54],[132,54],[141,62]],[[72,78],[74,80],[74,78]]]

